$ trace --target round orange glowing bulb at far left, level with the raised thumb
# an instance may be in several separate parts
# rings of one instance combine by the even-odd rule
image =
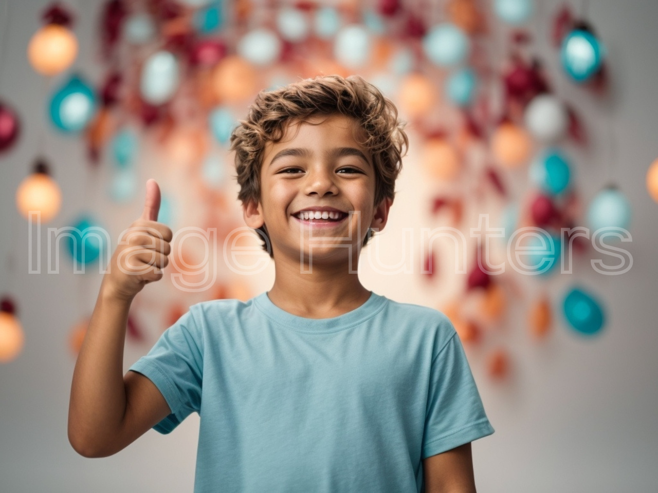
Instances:
[[[16,190],[16,206],[26,219],[30,219],[30,212],[38,211],[41,212],[41,222],[49,222],[57,216],[61,204],[62,192],[59,185],[46,173],[31,174]]]

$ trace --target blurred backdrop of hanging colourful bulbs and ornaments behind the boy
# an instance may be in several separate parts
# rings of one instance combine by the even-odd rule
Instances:
[[[363,76],[408,122],[359,271],[453,321],[496,430],[473,444],[478,491],[658,490],[657,18],[649,0],[0,0],[0,490],[192,489],[198,415],[110,458],[68,443],[101,270],[153,177],[159,221],[197,234],[135,299],[125,370],[191,304],[269,289],[228,137],[259,91],[320,74]]]

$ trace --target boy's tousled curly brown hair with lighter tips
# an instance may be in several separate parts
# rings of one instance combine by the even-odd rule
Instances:
[[[261,91],[230,137],[230,151],[236,151],[235,164],[240,184],[238,199],[245,205],[261,198],[261,165],[267,142],[278,143],[288,124],[311,116],[342,114],[354,118],[367,136],[359,141],[370,156],[375,170],[375,204],[395,197],[395,179],[402,169],[402,158],[409,149],[404,131],[407,122],[397,118],[397,108],[377,87],[361,76],[338,75],[303,79],[273,91]],[[265,224],[257,228],[263,249],[273,257]],[[363,246],[374,234],[368,228]]]

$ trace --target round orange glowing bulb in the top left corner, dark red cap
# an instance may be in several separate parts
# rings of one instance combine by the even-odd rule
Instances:
[[[34,70],[53,76],[66,70],[78,55],[78,40],[70,29],[47,24],[30,39],[28,60]]]

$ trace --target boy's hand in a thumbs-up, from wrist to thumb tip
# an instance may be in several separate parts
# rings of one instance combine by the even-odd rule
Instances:
[[[101,292],[130,302],[145,285],[162,279],[173,233],[157,222],[159,210],[160,187],[149,179],[141,217],[122,234],[103,277]]]

